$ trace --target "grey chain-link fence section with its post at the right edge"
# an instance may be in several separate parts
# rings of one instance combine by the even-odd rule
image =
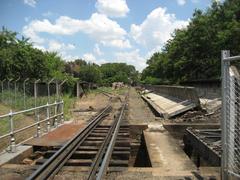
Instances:
[[[240,56],[222,51],[222,179],[240,178]]]

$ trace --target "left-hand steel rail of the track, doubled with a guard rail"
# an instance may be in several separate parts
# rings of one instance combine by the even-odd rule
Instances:
[[[111,104],[107,105],[102,111],[97,114],[97,116],[92,118],[86,128],[84,128],[64,146],[62,146],[27,179],[33,180],[53,178],[72,156],[72,154],[77,150],[79,145],[87,138],[90,132],[103,120],[103,118],[111,109]]]

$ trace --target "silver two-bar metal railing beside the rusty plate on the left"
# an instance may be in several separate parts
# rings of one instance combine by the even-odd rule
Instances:
[[[45,110],[45,113],[44,113],[44,110]],[[53,111],[53,113],[51,113],[51,110]],[[30,125],[27,125],[23,128],[16,129],[14,126],[14,117],[17,115],[22,115],[24,113],[30,113],[30,112],[34,113],[34,116],[36,119],[35,122]],[[41,116],[44,116],[44,118],[42,120],[40,119]],[[14,152],[16,152],[15,135],[17,133],[20,133],[22,131],[25,131],[29,128],[36,126],[37,127],[36,128],[36,136],[40,137],[42,123],[46,122],[46,130],[47,130],[47,132],[49,132],[51,130],[51,121],[53,122],[52,126],[54,126],[54,127],[57,127],[58,124],[61,124],[64,122],[64,102],[63,101],[59,101],[59,102],[55,101],[52,104],[47,103],[46,105],[30,108],[27,110],[17,111],[17,112],[13,112],[12,110],[10,110],[10,112],[8,114],[0,115],[0,121],[3,121],[6,118],[8,119],[10,129],[9,129],[8,133],[0,136],[0,141],[3,138],[10,137],[9,148],[10,148],[10,152],[14,153]]]

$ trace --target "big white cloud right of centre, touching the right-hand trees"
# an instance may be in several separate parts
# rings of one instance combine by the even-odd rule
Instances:
[[[177,28],[186,27],[188,21],[178,20],[175,14],[166,12],[166,8],[154,9],[140,25],[132,24],[130,35],[149,49],[163,44],[171,38]]]

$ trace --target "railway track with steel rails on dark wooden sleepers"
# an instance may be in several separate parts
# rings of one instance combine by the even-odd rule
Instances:
[[[62,147],[55,147],[37,161],[28,179],[52,179],[63,166],[87,170],[84,179],[102,179],[107,171],[128,166],[129,126],[124,120],[127,96],[117,112],[109,103],[89,124]]]

